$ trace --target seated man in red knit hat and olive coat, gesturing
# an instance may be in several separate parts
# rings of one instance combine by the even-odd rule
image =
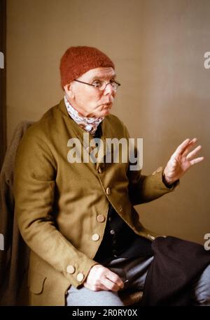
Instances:
[[[147,295],[150,277],[156,275],[155,279],[162,281],[156,266],[161,260],[158,254],[164,250],[167,259],[165,243],[171,241],[172,251],[177,247],[178,252],[187,243],[156,238],[141,225],[133,205],[172,192],[186,170],[202,161],[203,157],[195,158],[201,147],[190,151],[196,139],[183,141],[165,169],[158,168],[149,176],[142,175],[141,170],[130,170],[129,161],[106,163],[106,152],[94,139],[129,140],[125,125],[110,114],[120,85],[113,61],[96,48],[71,47],[61,59],[60,73],[64,99],[27,129],[15,163],[15,214],[31,249],[30,304],[123,305],[120,291],[147,287]],[[88,146],[83,139],[85,133]],[[79,161],[69,156],[72,139],[83,146]],[[83,161],[92,155],[92,141],[97,141],[100,156],[95,161]],[[155,243],[160,240],[159,250]],[[179,287],[190,285],[192,301],[208,304],[210,259],[202,250],[195,244],[195,259],[201,256],[202,262],[195,263],[192,275],[185,269],[192,263],[189,260],[182,269],[176,263],[169,271],[164,263],[160,268],[175,280],[180,278],[176,278],[180,268],[178,273],[184,272],[188,282],[181,280]],[[173,296],[167,292],[171,286],[168,279],[165,291],[173,305],[172,298],[179,289],[174,284]]]

